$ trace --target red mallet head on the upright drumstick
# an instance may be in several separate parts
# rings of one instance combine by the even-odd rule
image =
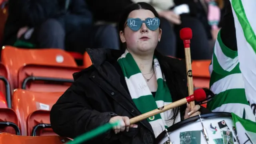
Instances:
[[[182,28],[180,30],[180,38],[183,40],[184,47],[190,47],[190,39],[192,38],[192,30],[190,28]]]

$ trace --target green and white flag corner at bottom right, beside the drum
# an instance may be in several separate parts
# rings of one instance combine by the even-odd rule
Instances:
[[[232,113],[240,144],[256,144],[256,122],[245,120]]]

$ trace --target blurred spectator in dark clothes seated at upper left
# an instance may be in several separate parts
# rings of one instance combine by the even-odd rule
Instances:
[[[9,0],[4,45],[17,40],[36,48],[61,48],[83,53],[85,48],[118,49],[116,29],[93,26],[84,0]]]

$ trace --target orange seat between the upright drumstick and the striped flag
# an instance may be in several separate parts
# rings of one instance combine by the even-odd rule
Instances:
[[[210,60],[193,60],[192,62],[192,74],[193,83],[196,88],[206,87],[209,88],[210,73],[209,66]]]

